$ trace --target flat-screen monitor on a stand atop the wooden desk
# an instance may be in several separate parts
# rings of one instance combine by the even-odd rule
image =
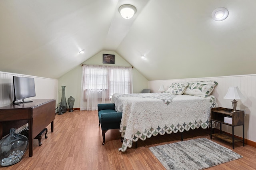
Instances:
[[[32,101],[24,101],[28,97],[35,97],[35,80],[31,77],[16,77],[13,76],[14,100],[13,104],[26,103]],[[15,102],[22,100],[22,102]],[[18,104],[17,104],[18,105]]]

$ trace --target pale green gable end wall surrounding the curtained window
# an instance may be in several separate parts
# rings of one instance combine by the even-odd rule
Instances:
[[[115,64],[103,64],[103,54],[114,54]],[[96,55],[92,56],[90,59],[84,61],[84,63],[82,64],[132,67],[132,65],[130,65],[114,51],[100,51]],[[80,108],[82,64],[78,65],[77,67],[75,67],[58,79],[58,102],[60,102],[62,95],[61,86],[66,85],[66,100],[72,95],[72,97],[75,98],[75,103],[73,107]],[[132,77],[133,93],[140,93],[142,89],[148,88],[148,80],[143,75],[141,75],[135,68],[132,69]]]

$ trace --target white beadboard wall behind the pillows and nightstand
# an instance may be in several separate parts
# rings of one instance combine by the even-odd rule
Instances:
[[[188,81],[209,81],[218,82],[212,95],[216,97],[218,107],[232,108],[230,99],[223,99],[228,91],[229,86],[238,86],[241,93],[246,97],[243,100],[237,100],[237,110],[245,111],[244,136],[246,139],[256,142],[256,75],[238,75],[225,77],[205,77],[194,79],[173,79],[173,80],[158,80],[149,81],[148,87],[152,92],[158,92],[160,85],[164,85],[165,89],[172,83],[188,82]],[[222,129],[232,133],[232,127],[223,125]],[[242,126],[235,127],[235,135],[242,137]]]

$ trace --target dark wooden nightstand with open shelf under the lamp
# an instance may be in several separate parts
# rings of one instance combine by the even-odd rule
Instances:
[[[216,108],[211,109],[211,120],[210,120],[211,134],[210,134],[210,137],[212,139],[212,136],[214,136],[216,138],[220,138],[222,140],[230,142],[230,143],[232,143],[232,146],[234,149],[235,142],[243,141],[243,146],[244,146],[244,111],[236,110],[234,112],[232,110],[233,109],[227,109],[227,108],[223,108],[223,107],[216,107]],[[213,133],[212,121],[220,123],[220,133]],[[232,136],[222,133],[222,124],[232,126]],[[234,137],[234,127],[236,127],[236,126],[243,127],[243,138],[242,139]]]

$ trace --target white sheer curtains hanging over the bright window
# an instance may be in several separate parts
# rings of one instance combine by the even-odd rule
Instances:
[[[97,110],[114,93],[131,93],[132,67],[82,65],[80,110]]]

